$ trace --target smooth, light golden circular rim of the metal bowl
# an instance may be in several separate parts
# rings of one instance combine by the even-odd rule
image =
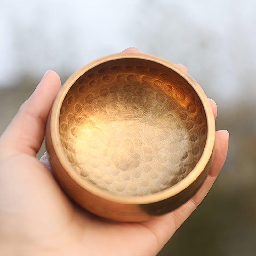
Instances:
[[[62,144],[60,141],[59,136],[59,114],[60,114],[60,108],[62,106],[63,100],[69,90],[69,88],[76,82],[76,80],[82,76],[85,72],[90,70],[91,68],[94,68],[95,66],[102,64],[104,62],[108,62],[111,60],[117,60],[117,59],[143,59],[143,60],[149,60],[156,63],[159,63],[167,68],[172,69],[177,74],[182,76],[195,90],[197,95],[199,96],[199,99],[202,102],[202,105],[204,107],[205,115],[206,115],[206,121],[207,121],[207,136],[206,136],[206,143],[204,146],[203,153],[196,164],[196,166],[191,170],[191,172],[182,180],[180,180],[175,185],[171,186],[170,188],[166,188],[162,191],[156,192],[154,194],[149,195],[143,195],[143,196],[118,196],[111,193],[108,193],[106,191],[103,191],[101,189],[98,189],[97,187],[91,185],[89,182],[86,182],[82,177],[79,176],[79,174],[76,173],[76,171],[72,168],[72,165],[69,163],[68,158],[66,157],[64,150],[62,148]],[[51,114],[50,114],[50,136],[52,140],[52,146],[55,151],[55,154],[64,168],[64,170],[68,173],[68,175],[75,180],[78,185],[80,185],[83,189],[91,192],[92,194],[99,196],[103,199],[116,202],[116,203],[122,203],[122,204],[149,204],[154,203],[157,201],[162,201],[164,199],[170,198],[181,191],[183,191],[185,188],[187,188],[189,185],[191,185],[203,172],[204,168],[208,164],[213,148],[214,148],[214,141],[215,141],[215,120],[212,112],[212,108],[210,105],[210,102],[205,95],[203,89],[200,87],[200,85],[196,82],[196,80],[190,76],[187,72],[182,70],[179,66],[173,64],[172,62],[169,62],[167,60],[164,60],[160,57],[156,57],[149,54],[144,53],[116,53],[111,54],[102,58],[99,58],[97,60],[94,60],[82,68],[78,69],[75,73],[73,73],[67,81],[63,84],[60,91],[58,92],[55,101],[52,106]]]

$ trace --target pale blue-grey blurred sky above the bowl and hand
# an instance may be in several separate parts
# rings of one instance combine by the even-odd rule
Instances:
[[[210,97],[232,101],[256,93],[255,9],[254,0],[0,0],[0,87],[48,69],[67,78],[135,46],[184,63]]]

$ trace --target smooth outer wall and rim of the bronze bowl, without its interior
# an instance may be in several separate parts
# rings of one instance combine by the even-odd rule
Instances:
[[[60,138],[58,137],[60,107],[66,93],[68,92],[69,88],[74,84],[74,82],[86,71],[103,62],[125,58],[139,58],[155,61],[174,70],[176,73],[182,76],[196,91],[200,100],[202,101],[206,113],[206,144],[203,154],[198,163],[196,164],[195,168],[188,174],[187,177],[185,177],[179,183],[175,184],[169,189],[158,192],[154,195],[138,197],[118,197],[115,195],[107,194],[104,191],[100,191],[92,185],[85,184],[82,178],[78,177],[78,175],[72,172],[72,166],[67,161],[64,151],[62,150]],[[190,75],[188,75],[187,72],[183,71],[175,64],[172,64],[171,62],[168,62],[161,58],[142,53],[119,53],[109,55],[95,60],[76,71],[72,76],[68,78],[68,80],[65,82],[60,92],[58,93],[52,106],[51,113],[49,114],[46,129],[46,148],[50,157],[49,160],[50,164],[52,165],[53,173],[59,181],[60,186],[78,204],[81,204],[86,209],[90,208],[88,210],[96,214],[99,210],[104,212],[104,209],[106,209],[108,213],[109,211],[119,212],[118,209],[120,209],[122,212],[122,210],[124,210],[124,206],[127,208],[127,206],[129,205],[130,210],[127,209],[127,213],[133,212],[133,215],[140,215],[140,212],[143,211],[144,215],[145,212],[148,212],[149,215],[158,215],[169,212],[177,208],[181,204],[185,203],[202,185],[204,179],[210,171],[210,167],[212,164],[214,140],[215,121],[212,113],[212,108],[202,88]],[[92,202],[94,202],[94,204]],[[121,208],[119,206],[121,206]],[[108,210],[104,207],[107,207]],[[121,214],[121,212],[119,213]],[[103,215],[105,216],[106,214]],[[148,216],[148,214],[146,215]],[[146,216],[144,216],[143,218],[145,217]]]

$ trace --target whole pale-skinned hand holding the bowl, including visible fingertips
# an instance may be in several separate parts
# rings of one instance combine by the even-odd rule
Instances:
[[[0,137],[0,255],[156,255],[212,187],[226,158],[228,132],[216,132],[211,171],[180,208],[143,223],[104,220],[76,207],[45,160],[36,158],[60,87],[59,76],[48,71]],[[216,118],[216,104],[209,101]]]

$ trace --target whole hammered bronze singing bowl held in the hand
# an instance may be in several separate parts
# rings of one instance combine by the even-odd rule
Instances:
[[[89,212],[141,222],[184,204],[209,173],[215,121],[196,81],[142,53],[91,62],[68,78],[46,127],[63,191]]]

